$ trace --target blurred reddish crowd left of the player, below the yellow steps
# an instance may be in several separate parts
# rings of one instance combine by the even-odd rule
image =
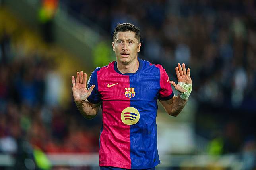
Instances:
[[[52,69],[53,61],[39,52],[25,55],[25,46],[16,43],[8,35],[1,39],[0,151],[16,153],[22,149],[20,140],[46,152],[98,151],[93,122],[80,127],[81,117],[74,114],[72,101],[68,109],[60,107],[62,84]]]

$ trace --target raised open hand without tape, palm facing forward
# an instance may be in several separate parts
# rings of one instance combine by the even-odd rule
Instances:
[[[86,88],[86,82],[87,82],[87,74],[81,71],[80,73],[76,73],[76,82],[75,77],[72,76],[72,91],[73,91],[73,97],[75,102],[82,102],[85,101],[93,91],[93,88],[95,85],[92,85],[89,90]]]

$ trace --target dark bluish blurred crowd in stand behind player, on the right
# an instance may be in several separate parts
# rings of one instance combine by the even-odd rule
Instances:
[[[197,133],[220,138],[221,153],[240,151],[246,142],[255,147],[255,0],[62,2],[70,15],[109,35],[117,23],[140,27],[144,59],[161,63],[171,79],[177,63],[191,68]]]

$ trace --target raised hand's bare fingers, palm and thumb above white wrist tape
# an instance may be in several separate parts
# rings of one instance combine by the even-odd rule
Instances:
[[[175,67],[175,71],[177,74],[178,82],[183,82],[186,84],[192,84],[192,80],[190,77],[190,69],[188,68],[188,71],[186,71],[186,65],[183,63],[182,68],[180,63],[178,63],[178,67]],[[173,81],[170,81],[170,83],[174,86],[176,90],[178,90],[180,93],[186,92],[184,88],[182,88],[180,85],[176,84]]]

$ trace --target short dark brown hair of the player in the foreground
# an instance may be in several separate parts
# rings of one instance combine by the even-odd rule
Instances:
[[[126,32],[126,31],[134,32],[135,38],[138,40],[138,44],[140,43],[140,29],[139,29],[139,27],[136,27],[135,25],[132,25],[131,23],[117,24],[116,28],[114,29],[113,41],[115,41],[116,34],[118,32]]]

